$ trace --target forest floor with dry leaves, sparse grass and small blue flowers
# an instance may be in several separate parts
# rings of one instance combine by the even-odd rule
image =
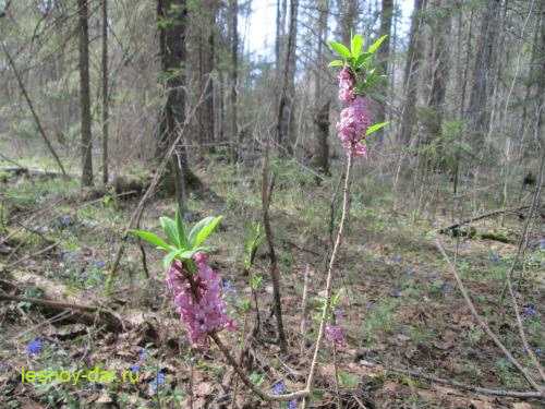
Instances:
[[[313,328],[312,316],[318,311],[325,288],[331,197],[339,175],[316,185],[313,175],[293,164],[275,161],[272,168],[277,180],[270,219],[290,353],[282,356],[277,346],[254,340],[246,366],[252,381],[265,389],[283,381],[288,390],[296,390],[303,386],[314,338],[312,329],[300,333],[303,277],[306,270],[308,327]],[[210,260],[213,267],[229,280],[229,310],[243,329],[221,334],[235,351],[253,323],[253,314],[245,313],[253,303],[242,260],[247,225],[262,217],[259,165],[242,168],[213,160],[203,165],[197,175],[209,191],[191,196],[186,219],[191,224],[205,216],[223,215],[221,229],[211,239],[216,252]],[[25,301],[0,301],[1,408],[187,408],[190,390],[195,409],[231,408],[232,394],[226,393],[231,371],[214,347],[203,352],[189,348],[156,250],[146,245],[150,274],[146,278],[140,248],[130,239],[113,293],[105,296],[108,268],[137,197],[82,200],[76,180],[64,182],[57,178],[0,175],[0,288],[17,297],[101,305],[131,323],[112,330],[100,315],[88,322],[76,312],[59,312]],[[378,177],[356,175],[349,228],[336,266],[335,287],[342,288],[340,324],[348,338],[347,346],[336,351],[343,407],[543,407],[535,400],[486,396],[387,371],[413,370],[473,386],[530,390],[475,323],[435,248],[433,231],[451,221],[448,206],[431,204],[427,210],[416,213],[409,199],[398,199],[395,205],[387,184]],[[339,200],[334,206],[336,220]],[[495,208],[486,203],[482,206]],[[433,217],[429,208],[434,209]],[[155,197],[146,206],[142,227],[158,231],[158,217],[172,215],[173,209],[172,200]],[[452,258],[458,245],[457,267],[480,313],[513,356],[532,368],[505,292],[506,273],[517,253],[523,222],[508,216],[501,229],[499,225],[499,218],[493,218],[474,227],[495,233],[500,230],[509,238],[508,243],[476,236],[456,239],[440,234],[440,239]],[[530,345],[544,362],[542,233],[530,234],[530,246],[514,272],[514,281]],[[269,314],[271,285],[265,245],[251,274],[262,278],[257,290],[262,335],[270,338],[275,322]],[[322,352],[313,401],[316,408],[335,408],[332,347],[326,345]],[[45,378],[33,382],[27,377],[22,382],[22,371],[77,371],[96,365],[116,371],[118,380],[76,383]],[[123,371],[131,371],[137,380],[120,378]],[[240,408],[282,407],[259,406],[242,385],[237,390]]]

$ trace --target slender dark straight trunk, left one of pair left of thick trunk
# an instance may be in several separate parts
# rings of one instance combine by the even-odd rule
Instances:
[[[80,109],[82,120],[82,185],[93,185],[90,134],[89,27],[87,0],[77,0],[80,15]]]

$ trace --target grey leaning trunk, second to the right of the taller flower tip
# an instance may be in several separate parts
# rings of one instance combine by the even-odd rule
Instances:
[[[409,39],[409,50],[404,70],[404,107],[401,118],[401,131],[399,140],[404,145],[409,145],[412,136],[412,129],[416,115],[416,97],[419,91],[419,68],[422,60],[422,11],[426,0],[414,0],[414,10],[411,17],[411,34]]]

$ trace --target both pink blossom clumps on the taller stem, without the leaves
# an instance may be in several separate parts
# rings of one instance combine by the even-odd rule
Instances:
[[[354,94],[354,77],[348,67],[339,73],[339,99],[347,104],[341,110],[337,131],[342,146],[352,156],[366,156],[367,148],[362,143],[367,128],[371,125],[368,101]]]

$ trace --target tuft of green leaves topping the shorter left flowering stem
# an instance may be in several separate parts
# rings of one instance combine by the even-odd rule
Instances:
[[[216,230],[221,218],[222,216],[205,217],[195,224],[187,234],[183,220],[177,212],[175,219],[165,216],[159,218],[166,240],[147,230],[131,230],[131,233],[167,252],[162,258],[165,268],[168,268],[174,260],[180,260],[187,265],[190,270],[193,270],[193,255],[209,251],[201,244]]]

